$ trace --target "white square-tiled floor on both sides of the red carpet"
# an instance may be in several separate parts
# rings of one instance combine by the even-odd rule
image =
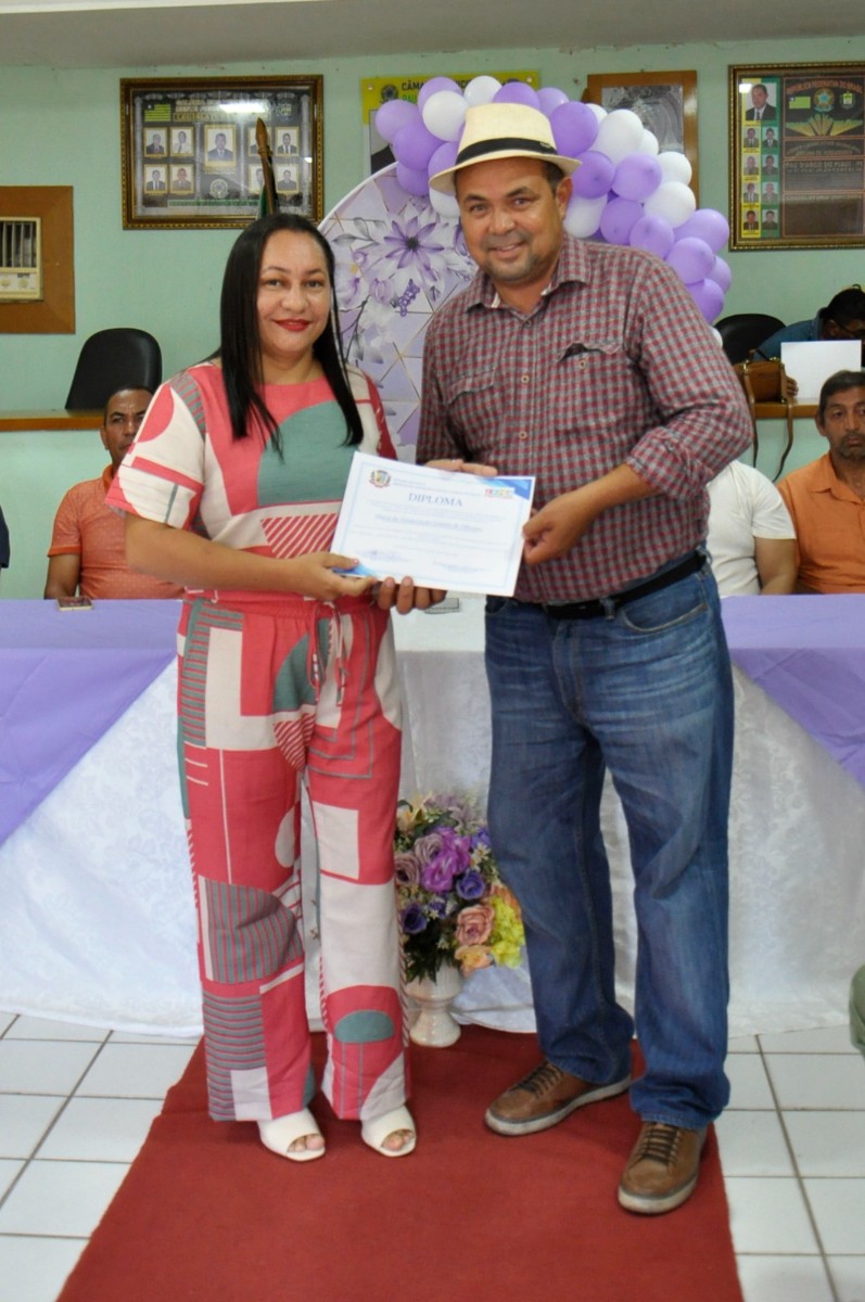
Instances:
[[[193,1048],[0,1013],[0,1302],[55,1302]],[[865,1302],[865,1062],[843,1026],[731,1048],[745,1302]]]

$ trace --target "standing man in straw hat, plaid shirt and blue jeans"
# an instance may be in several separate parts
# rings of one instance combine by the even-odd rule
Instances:
[[[706,483],[750,443],[723,352],[674,272],[564,230],[576,160],[543,113],[470,108],[453,168],[479,272],[426,336],[418,461],[537,477],[513,599],[487,600],[490,831],[524,911],[543,1059],[487,1109],[532,1134],[631,1087],[619,1202],[697,1182],[728,1101],[732,691],[705,565]],[[616,1003],[599,805],[629,828],[634,1019]]]

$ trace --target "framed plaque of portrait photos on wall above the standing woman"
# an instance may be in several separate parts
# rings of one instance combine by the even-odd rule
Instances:
[[[245,227],[258,212],[264,122],[281,207],[320,221],[322,78],[120,82],[124,228]]]

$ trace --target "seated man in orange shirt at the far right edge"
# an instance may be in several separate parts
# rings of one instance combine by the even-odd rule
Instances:
[[[778,488],[796,526],[797,592],[865,592],[865,371],[836,371],[814,417],[829,452]]]

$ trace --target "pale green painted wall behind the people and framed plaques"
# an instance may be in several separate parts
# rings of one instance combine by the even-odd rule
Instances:
[[[1,57],[1,52],[0,52]],[[122,230],[121,77],[320,73],[324,78],[324,206],[365,176],[360,79],[363,76],[538,68],[541,82],[577,99],[589,73],[697,70],[700,201],[727,211],[730,64],[860,60],[861,39],[731,42],[631,49],[490,49],[261,62],[231,68],[52,69],[0,66],[0,185],[74,187],[76,335],[0,335],[0,408],[60,408],[83,340],[107,326],[139,326],[160,341],[167,374],[216,342],[219,284],[234,232]],[[784,320],[812,315],[842,285],[865,281],[865,250],[731,254],[726,312],[763,310]],[[773,466],[780,431],[763,437]],[[817,456],[802,426],[789,465]],[[776,458],[775,458],[776,461]],[[13,566],[1,596],[39,596],[53,509],[65,488],[103,465],[94,434],[0,434],[0,501],[13,534]]]

